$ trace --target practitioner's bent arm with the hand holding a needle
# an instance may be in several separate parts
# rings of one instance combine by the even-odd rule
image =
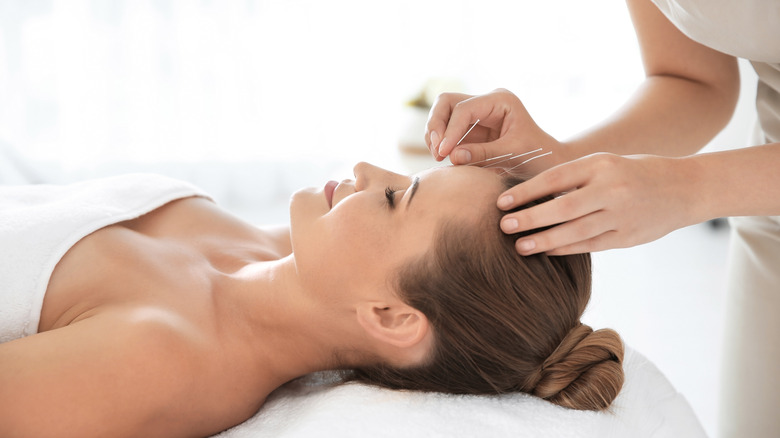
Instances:
[[[560,142],[544,132],[506,90],[482,96],[445,93],[428,119],[432,155],[467,164],[543,147],[546,167],[595,152],[684,156],[701,149],[729,121],[739,95],[736,58],[680,32],[650,0],[627,0],[645,67],[645,80],[613,116]],[[480,120],[462,145],[458,139]],[[468,151],[470,158],[462,155]],[[534,167],[544,166],[541,160]],[[536,169],[534,169],[536,170]]]

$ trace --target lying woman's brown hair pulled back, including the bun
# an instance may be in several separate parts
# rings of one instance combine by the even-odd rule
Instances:
[[[521,181],[507,177],[504,185]],[[491,212],[484,226],[444,223],[432,253],[397,275],[399,295],[431,323],[430,359],[411,368],[356,369],[351,379],[454,394],[519,391],[572,409],[609,407],[623,385],[623,344],[613,330],[594,332],[579,321],[590,298],[590,255],[520,256],[514,243],[522,234],[501,232],[501,214]]]

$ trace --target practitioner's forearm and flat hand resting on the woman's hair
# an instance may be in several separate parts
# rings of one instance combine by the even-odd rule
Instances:
[[[668,158],[593,154],[554,167],[505,192],[504,232],[560,224],[517,241],[519,253],[564,255],[624,248],[725,216],[780,215],[780,143]]]

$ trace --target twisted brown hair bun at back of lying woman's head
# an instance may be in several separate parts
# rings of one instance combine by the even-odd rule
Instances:
[[[567,408],[604,410],[623,386],[622,363],[623,342],[614,330],[580,324],[544,361],[530,392]]]

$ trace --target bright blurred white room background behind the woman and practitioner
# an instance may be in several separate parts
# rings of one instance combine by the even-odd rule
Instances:
[[[754,79],[708,149],[742,146]],[[191,181],[260,223],[358,161],[410,173],[427,91],[515,92],[559,139],[642,80],[623,2],[0,0],[0,183]],[[586,322],[616,328],[716,432],[728,233],[594,255]]]

